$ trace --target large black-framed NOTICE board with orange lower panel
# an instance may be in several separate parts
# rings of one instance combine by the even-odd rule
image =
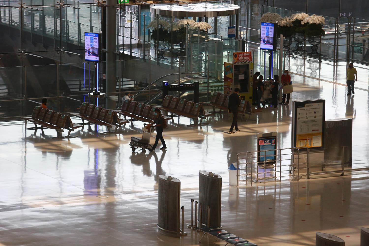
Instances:
[[[292,103],[292,147],[324,147],[325,100]]]

